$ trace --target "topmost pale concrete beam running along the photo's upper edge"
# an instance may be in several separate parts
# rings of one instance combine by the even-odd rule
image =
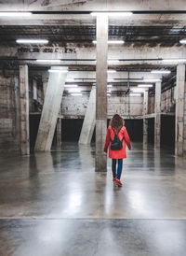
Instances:
[[[21,0],[12,1],[8,0],[5,2],[1,2],[0,7],[2,10],[7,10],[11,8],[11,11],[14,10],[56,10],[56,11],[131,11],[131,10],[182,10],[184,7],[184,0],[178,0],[175,2],[174,0],[133,0],[133,1],[117,1],[117,5],[113,3],[112,0],[86,0],[86,1],[72,1],[67,0],[65,2],[60,2],[59,0],[53,1],[30,1],[25,0],[22,2]]]

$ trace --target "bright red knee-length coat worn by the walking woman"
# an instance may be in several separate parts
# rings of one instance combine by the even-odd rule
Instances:
[[[123,140],[123,148],[120,150],[112,150],[111,149],[111,140],[113,140],[114,133],[113,133],[114,128],[112,129],[111,126],[109,126],[107,130],[107,135],[106,135],[106,140],[105,140],[105,146],[104,146],[104,151],[107,152],[107,149],[109,147],[109,157],[113,159],[122,159],[126,158],[126,144],[128,149],[131,149],[130,145],[130,139],[126,131],[126,127],[123,126],[122,129],[120,130],[118,137],[122,141]],[[116,130],[114,130],[116,133]]]

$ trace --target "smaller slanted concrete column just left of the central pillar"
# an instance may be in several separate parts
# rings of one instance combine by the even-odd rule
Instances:
[[[79,144],[90,144],[92,135],[94,133],[94,127],[96,124],[96,87],[92,86],[90,92],[88,105],[86,108],[86,116],[79,137]]]

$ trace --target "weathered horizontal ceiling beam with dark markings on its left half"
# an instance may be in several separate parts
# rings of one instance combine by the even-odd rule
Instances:
[[[51,52],[45,52],[46,49]],[[8,51],[6,47],[0,48],[0,57],[18,57],[25,59],[69,59],[82,60],[91,59],[96,60],[96,47],[80,48],[73,46],[72,44],[65,50],[61,47],[38,47],[34,52],[33,47],[9,47]],[[39,52],[38,52],[39,51]],[[146,59],[182,59],[186,56],[186,49],[181,47],[126,47],[124,46],[112,46],[108,50],[108,59],[124,59],[124,64],[144,64]],[[137,60],[138,61],[135,61]],[[131,61],[133,60],[133,61]],[[141,60],[141,62],[140,62]],[[153,63],[151,61],[145,61],[145,64],[163,64],[170,65],[170,63],[157,61]],[[74,63],[75,64],[75,63]],[[173,64],[174,65],[174,64]]]

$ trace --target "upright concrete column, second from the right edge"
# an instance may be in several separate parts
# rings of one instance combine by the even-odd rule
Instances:
[[[155,83],[154,148],[160,148],[161,135],[161,82]]]

